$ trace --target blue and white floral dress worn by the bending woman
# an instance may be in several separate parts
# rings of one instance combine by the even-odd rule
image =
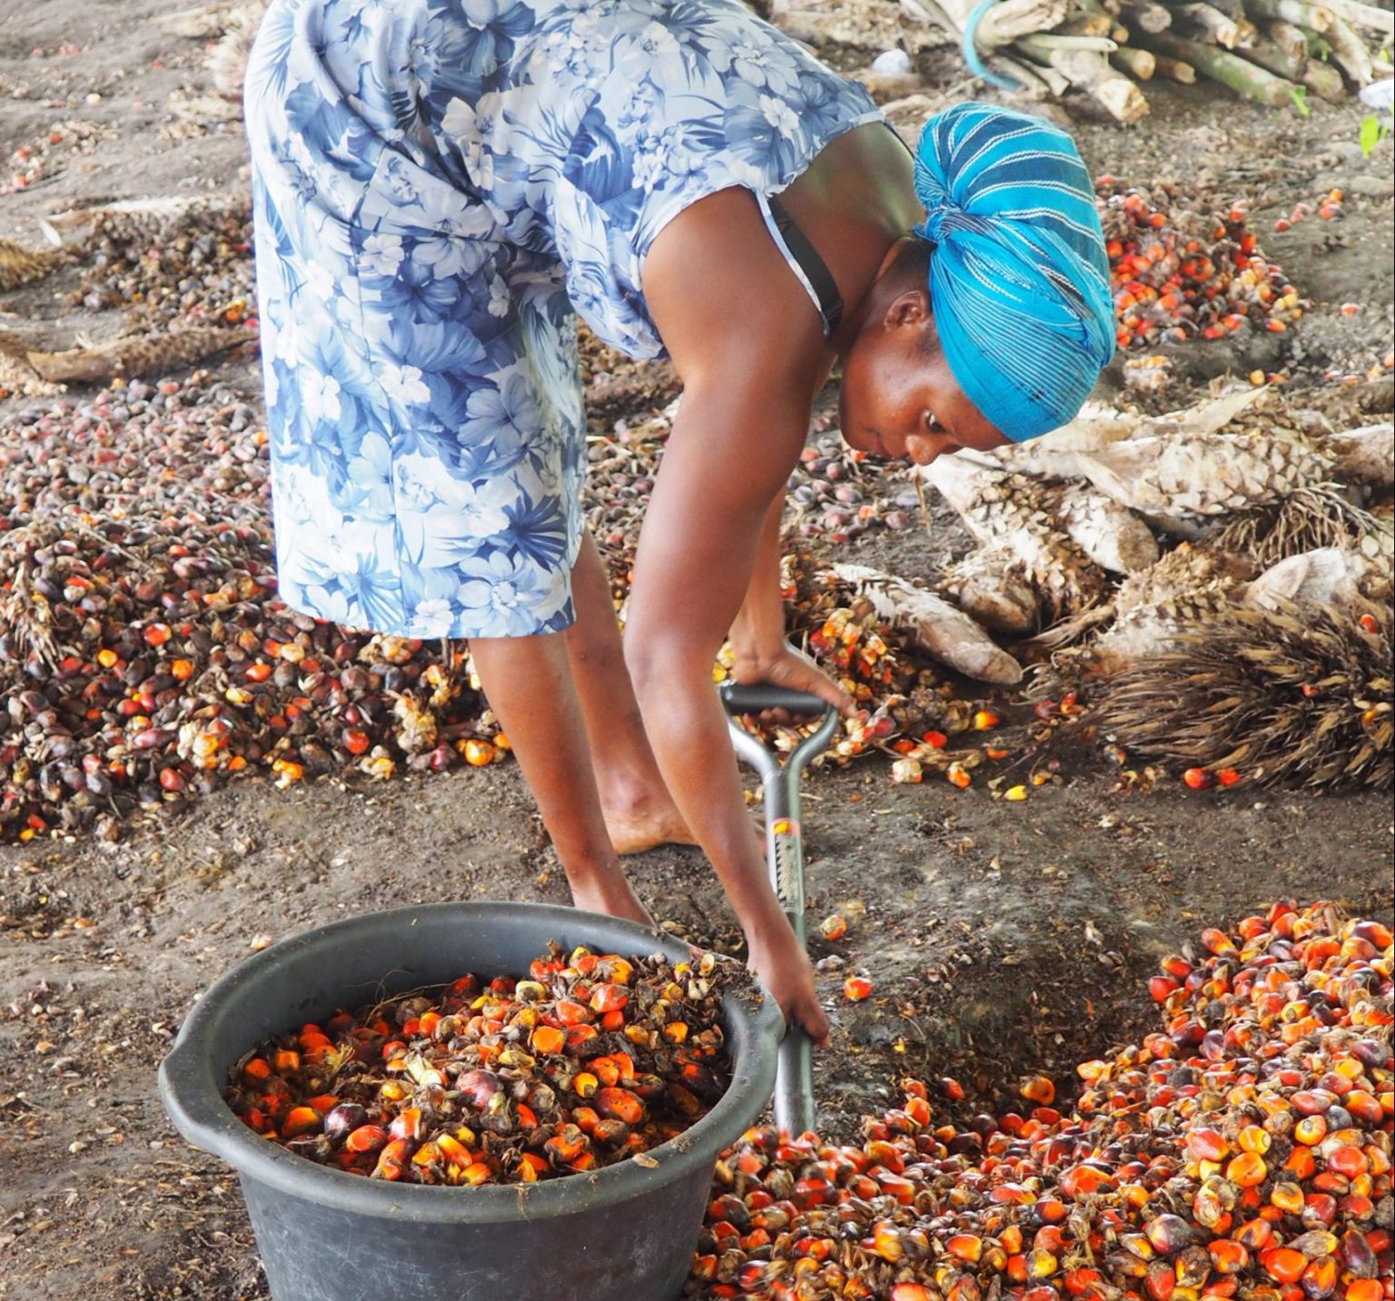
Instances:
[[[575,312],[661,356],[664,225],[879,114],[737,0],[272,0],[246,119],[282,594],[494,637],[572,622]]]

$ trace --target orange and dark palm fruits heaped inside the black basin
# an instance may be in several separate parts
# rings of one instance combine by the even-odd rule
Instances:
[[[721,998],[741,968],[552,948],[526,977],[335,1011],[257,1044],[227,1103],[346,1174],[530,1184],[614,1164],[700,1120],[727,1082]]]

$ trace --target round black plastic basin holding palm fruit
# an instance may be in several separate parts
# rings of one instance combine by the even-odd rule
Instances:
[[[248,1129],[229,1071],[269,1035],[338,1007],[465,972],[522,975],[564,950],[689,957],[688,945],[573,908],[431,904],[336,922],[273,944],[195,1004],[160,1065],[160,1099],[197,1148],[232,1164],[276,1301],[668,1301],[682,1287],[717,1155],[770,1097],[774,1000],[728,994],[731,1085],[685,1134],[632,1160],[540,1184],[439,1188],[345,1174]]]

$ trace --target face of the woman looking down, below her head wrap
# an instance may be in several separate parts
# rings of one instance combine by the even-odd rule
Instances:
[[[843,365],[838,423],[859,452],[918,466],[961,448],[988,452],[1010,442],[954,379],[923,290],[901,294],[852,342]]]

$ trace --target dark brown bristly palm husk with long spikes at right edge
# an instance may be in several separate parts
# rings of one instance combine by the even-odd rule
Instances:
[[[1362,618],[1368,621],[1362,623]],[[1264,785],[1391,788],[1391,609],[1230,607],[1105,680],[1101,731]]]

